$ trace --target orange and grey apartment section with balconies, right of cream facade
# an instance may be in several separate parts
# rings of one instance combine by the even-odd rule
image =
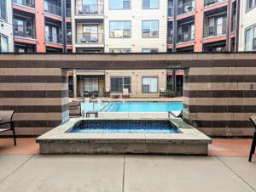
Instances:
[[[238,48],[238,0],[168,0],[168,52]]]

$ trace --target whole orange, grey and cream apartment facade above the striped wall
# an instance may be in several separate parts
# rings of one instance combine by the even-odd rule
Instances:
[[[245,44],[245,25],[253,26],[256,18],[253,0],[0,2],[9,52],[237,51]]]

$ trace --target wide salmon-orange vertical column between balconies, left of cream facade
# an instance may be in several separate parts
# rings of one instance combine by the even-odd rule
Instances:
[[[44,0],[36,2],[36,36],[37,36],[37,52],[44,53],[46,51],[44,39]]]

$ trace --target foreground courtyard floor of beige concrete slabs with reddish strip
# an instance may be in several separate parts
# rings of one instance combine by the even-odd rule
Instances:
[[[213,139],[211,156],[38,155],[34,138],[0,139],[2,192],[247,192],[250,139]]]

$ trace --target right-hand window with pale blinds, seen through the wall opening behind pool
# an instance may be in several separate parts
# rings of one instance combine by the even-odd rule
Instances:
[[[157,76],[143,76],[143,93],[157,93],[158,91]]]

